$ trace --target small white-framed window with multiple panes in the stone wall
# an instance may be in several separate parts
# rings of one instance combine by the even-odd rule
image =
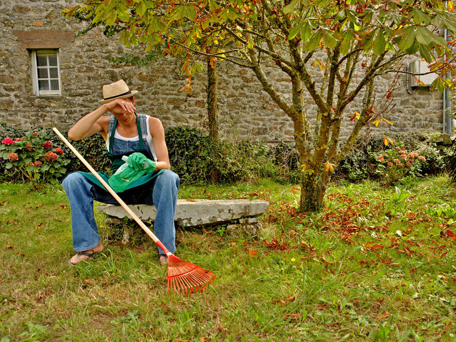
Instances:
[[[33,95],[62,95],[58,50],[32,50]]]

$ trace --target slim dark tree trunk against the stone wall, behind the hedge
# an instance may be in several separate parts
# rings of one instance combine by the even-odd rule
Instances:
[[[211,136],[212,144],[215,147],[219,145],[220,137],[218,133],[218,116],[217,116],[217,69],[216,62],[208,57],[208,87],[207,87],[207,104],[208,104],[208,121],[209,135]],[[214,149],[213,157],[216,158],[216,149]],[[220,175],[218,170],[212,170],[211,181],[215,183]]]

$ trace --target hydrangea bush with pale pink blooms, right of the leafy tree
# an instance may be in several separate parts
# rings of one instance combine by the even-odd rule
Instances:
[[[426,161],[426,158],[418,152],[408,152],[402,148],[401,143],[396,145],[377,156],[377,172],[388,186],[396,180],[403,179],[408,174],[417,175],[420,172],[421,164]]]

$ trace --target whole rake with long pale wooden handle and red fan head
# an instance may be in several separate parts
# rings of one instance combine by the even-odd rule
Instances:
[[[162,242],[150,231],[149,228],[139,219],[139,217],[129,208],[127,204],[115,193],[115,191],[106,183],[104,179],[98,175],[94,168],[87,163],[84,157],[74,148],[68,140],[59,132],[55,127],[52,129],[67,147],[73,151],[81,162],[94,174],[101,184],[109,191],[111,195],[119,202],[119,204],[130,214],[136,223],[143,228],[147,235],[166,253],[168,257],[168,277],[166,277],[168,286],[167,292],[184,294],[188,297],[191,293],[202,293],[206,286],[214,281],[214,274],[200,266],[193,263],[183,261],[176,257],[173,253],[168,251]]]

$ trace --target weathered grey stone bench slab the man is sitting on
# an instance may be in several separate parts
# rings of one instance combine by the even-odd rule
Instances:
[[[258,217],[266,212],[268,205],[268,201],[259,199],[178,199],[174,220],[181,227],[218,225]],[[153,205],[129,207],[142,221],[155,219],[157,211]],[[131,218],[119,205],[100,205],[98,211],[111,217]]]

